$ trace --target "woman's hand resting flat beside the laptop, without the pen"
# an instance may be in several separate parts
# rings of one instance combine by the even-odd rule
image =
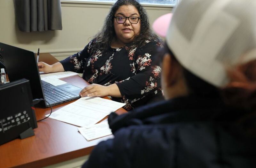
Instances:
[[[83,90],[81,90],[79,95],[81,97],[84,97],[84,96],[105,97],[105,96],[109,95],[109,89],[107,86],[102,86],[102,85],[93,83],[93,84],[83,88]]]

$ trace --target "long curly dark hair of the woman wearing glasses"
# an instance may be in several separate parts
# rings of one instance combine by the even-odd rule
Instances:
[[[140,34],[135,36],[132,45],[135,44],[138,47],[141,47],[144,45],[145,41],[149,39],[156,40],[157,42],[161,41],[160,38],[152,31],[147,12],[139,2],[136,0],[117,0],[116,3],[112,5],[101,31],[94,36],[96,41],[92,46],[92,50],[95,51],[99,49],[104,52],[109,48],[113,38],[116,36],[114,29],[114,16],[116,11],[122,5],[132,5],[140,14]]]

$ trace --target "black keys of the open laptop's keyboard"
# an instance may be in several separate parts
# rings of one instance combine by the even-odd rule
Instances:
[[[45,98],[51,100],[54,103],[75,97],[74,95],[70,95],[69,93],[64,92],[58,88],[54,88],[52,85],[49,85],[48,83],[42,83],[42,86]]]

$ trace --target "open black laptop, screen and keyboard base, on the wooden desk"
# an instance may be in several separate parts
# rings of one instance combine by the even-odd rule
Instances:
[[[1,42],[0,50],[9,80],[12,82],[23,78],[28,79],[33,99],[42,98],[54,106],[80,98],[79,93],[82,88],[69,83],[54,86],[41,80],[34,52]],[[42,101],[44,107],[50,107],[48,103]]]

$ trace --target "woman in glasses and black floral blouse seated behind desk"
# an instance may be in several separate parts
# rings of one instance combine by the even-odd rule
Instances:
[[[109,96],[131,110],[164,100],[161,68],[152,63],[160,42],[143,6],[136,0],[118,0],[102,30],[84,50],[53,65],[39,62],[39,71],[83,73],[83,79],[91,85],[80,92],[81,97]]]

